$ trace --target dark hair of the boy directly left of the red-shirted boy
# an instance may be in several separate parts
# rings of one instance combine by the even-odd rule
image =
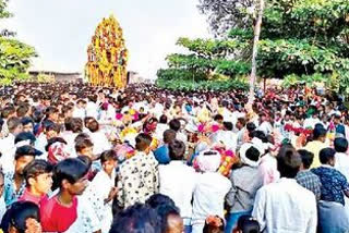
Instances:
[[[36,177],[40,174],[50,173],[52,172],[53,167],[43,160],[43,159],[35,159],[32,162],[29,162],[23,170],[23,174],[26,181],[27,186],[29,185],[29,179]]]

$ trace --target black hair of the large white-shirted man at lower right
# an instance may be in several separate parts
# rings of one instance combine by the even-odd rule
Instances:
[[[296,177],[301,163],[301,156],[291,145],[285,145],[280,148],[277,156],[277,169],[281,177]]]

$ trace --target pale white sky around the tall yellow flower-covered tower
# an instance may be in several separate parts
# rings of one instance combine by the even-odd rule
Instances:
[[[31,70],[83,72],[86,49],[103,17],[113,14],[130,51],[129,70],[156,78],[165,58],[183,51],[181,36],[209,37],[197,0],[11,0],[14,17],[4,25],[34,46],[39,58]]]

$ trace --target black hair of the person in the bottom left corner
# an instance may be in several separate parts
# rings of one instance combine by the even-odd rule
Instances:
[[[14,203],[4,213],[1,229],[7,233],[10,226],[14,226],[19,233],[25,233],[27,219],[35,219],[40,222],[39,207],[32,201]]]

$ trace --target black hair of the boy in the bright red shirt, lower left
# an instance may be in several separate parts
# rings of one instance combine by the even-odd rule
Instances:
[[[53,169],[53,186],[62,187],[62,181],[67,180],[74,184],[80,179],[84,177],[89,170],[89,167],[77,158],[69,158],[60,161]]]

